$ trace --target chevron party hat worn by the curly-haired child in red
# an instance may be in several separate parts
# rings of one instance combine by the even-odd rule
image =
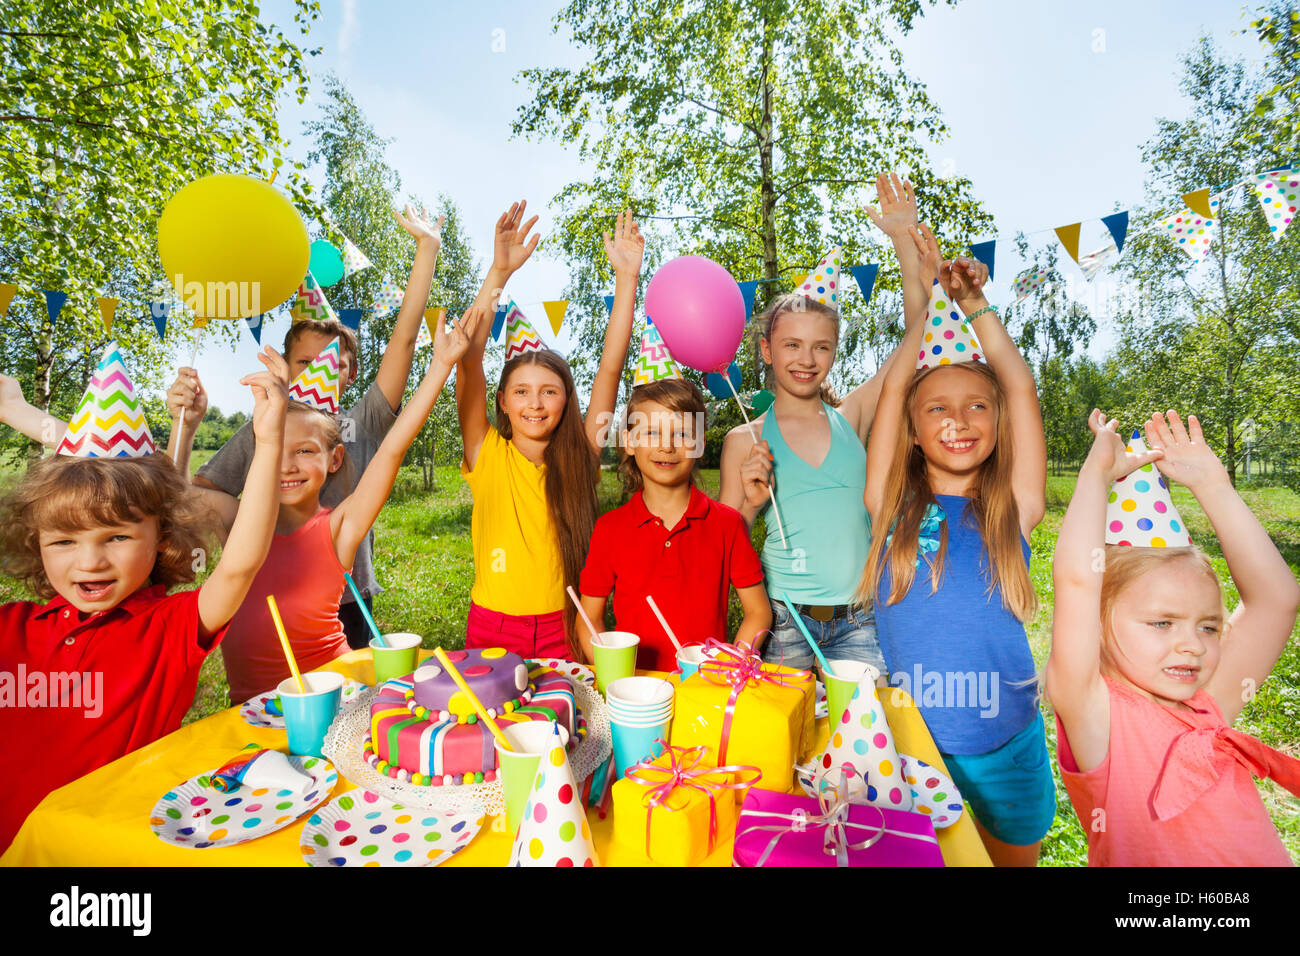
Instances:
[[[72,458],[144,458],[157,451],[144,407],[126,375],[117,342],[109,342],[57,454]]]

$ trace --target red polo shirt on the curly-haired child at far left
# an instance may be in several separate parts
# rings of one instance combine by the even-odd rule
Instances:
[[[198,588],[84,619],[62,597],[0,606],[0,851],[47,793],[177,730],[224,635],[200,643]]]

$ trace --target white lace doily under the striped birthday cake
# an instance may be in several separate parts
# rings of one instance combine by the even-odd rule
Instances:
[[[572,678],[569,684],[573,685],[573,701],[586,718],[586,736],[578,741],[577,749],[569,753],[573,779],[581,783],[610,758],[612,752],[610,713],[594,687]],[[330,724],[325,735],[324,753],[338,771],[358,787],[407,806],[428,806],[443,813],[504,813],[506,800],[497,780],[425,787],[395,780],[365,762],[361,757],[361,745],[370,732],[370,701],[380,693],[381,687],[384,685],[372,687],[360,695],[356,704],[347,713],[339,713]]]

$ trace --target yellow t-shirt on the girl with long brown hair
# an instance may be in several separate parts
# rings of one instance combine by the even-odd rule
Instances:
[[[564,570],[546,506],[546,466],[533,464],[489,428],[473,471],[460,473],[474,498],[471,600],[500,614],[550,614],[564,607]]]

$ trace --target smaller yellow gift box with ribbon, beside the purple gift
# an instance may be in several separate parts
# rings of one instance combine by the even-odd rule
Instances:
[[[666,747],[614,784],[614,839],[653,862],[694,866],[736,829],[733,793],[760,777],[753,766],[710,766],[703,747]]]

